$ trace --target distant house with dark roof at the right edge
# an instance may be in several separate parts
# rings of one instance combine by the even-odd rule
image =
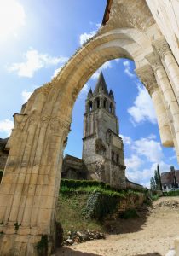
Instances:
[[[179,170],[171,170],[170,172],[161,173],[162,189],[169,190],[175,188],[175,179],[177,186],[179,185]]]

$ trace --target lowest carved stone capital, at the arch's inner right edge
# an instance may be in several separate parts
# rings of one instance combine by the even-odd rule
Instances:
[[[141,79],[141,83],[145,85],[150,96],[152,96],[153,92],[159,89],[153,73],[153,68],[148,64],[143,67],[136,68],[136,73]]]

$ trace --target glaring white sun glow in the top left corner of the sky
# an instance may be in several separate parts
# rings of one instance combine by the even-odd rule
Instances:
[[[20,26],[25,25],[26,13],[16,0],[0,1],[0,39],[17,35]]]

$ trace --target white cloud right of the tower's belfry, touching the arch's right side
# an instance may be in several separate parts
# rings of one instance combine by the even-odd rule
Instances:
[[[141,87],[140,84],[137,85],[138,95],[136,96],[134,106],[128,108],[128,113],[130,113],[132,118],[131,121],[134,125],[144,121],[156,124],[156,115],[151,98],[145,87]]]

